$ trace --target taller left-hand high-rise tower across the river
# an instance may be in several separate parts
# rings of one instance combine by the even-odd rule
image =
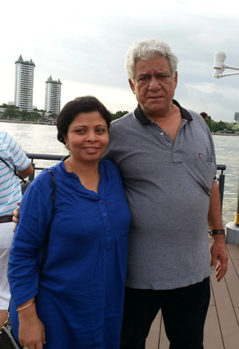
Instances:
[[[32,112],[34,67],[32,60],[23,60],[22,56],[15,62],[15,106],[20,110]]]

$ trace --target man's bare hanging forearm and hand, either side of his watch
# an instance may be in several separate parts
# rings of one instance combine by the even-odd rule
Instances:
[[[209,213],[208,213],[208,224],[211,230],[223,229],[222,218],[221,218],[221,204],[220,204],[220,194],[217,182],[213,182],[211,189],[211,197],[209,204]],[[217,260],[219,264],[216,268],[217,270],[217,281],[222,280],[223,276],[227,271],[227,261],[228,254],[225,244],[225,237],[223,235],[213,236],[213,245],[211,247],[212,261],[211,266],[212,270],[215,269]]]

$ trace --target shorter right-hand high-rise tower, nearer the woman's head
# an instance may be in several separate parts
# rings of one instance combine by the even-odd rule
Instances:
[[[60,113],[61,85],[60,79],[58,79],[58,81],[52,80],[51,75],[50,78],[47,79],[45,93],[45,110],[47,113]]]

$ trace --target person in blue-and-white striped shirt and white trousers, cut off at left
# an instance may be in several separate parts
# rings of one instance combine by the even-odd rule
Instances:
[[[22,178],[33,173],[29,159],[19,144],[14,141],[10,134],[0,130],[0,328],[7,320],[7,310],[11,297],[7,268],[13,239],[12,212],[22,197],[19,178],[1,158],[11,168],[16,166],[17,172]]]

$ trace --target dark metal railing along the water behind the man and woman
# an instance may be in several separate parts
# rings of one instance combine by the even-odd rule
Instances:
[[[52,161],[60,161],[63,157],[66,155],[51,155],[51,154],[31,154],[26,153],[26,156],[28,159],[31,159],[31,164],[33,167],[33,173],[31,176],[29,176],[29,181],[32,182],[35,178],[35,170],[43,170],[45,167],[35,167],[35,163],[33,163],[33,160],[52,160]],[[225,175],[223,175],[223,171],[226,170],[226,165],[217,165],[217,170],[221,171],[221,174],[217,178],[218,180],[218,186],[219,186],[219,193],[220,193],[220,201],[221,201],[221,208],[223,203],[223,193],[224,193],[224,182],[225,182]],[[239,210],[239,209],[238,209]]]

